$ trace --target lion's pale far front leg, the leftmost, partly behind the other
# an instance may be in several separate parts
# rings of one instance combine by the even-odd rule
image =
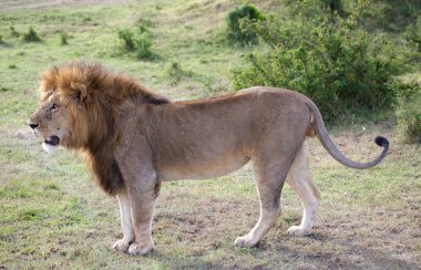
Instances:
[[[123,229],[123,238],[113,245],[113,249],[127,252],[130,245],[134,241],[134,231],[132,222],[132,210],[129,195],[125,190],[117,195],[120,205],[121,226]]]

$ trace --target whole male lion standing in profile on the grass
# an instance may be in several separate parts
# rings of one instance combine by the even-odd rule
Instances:
[[[61,145],[85,155],[96,183],[116,195],[123,239],[114,249],[144,255],[154,249],[152,216],[162,181],[228,174],[251,160],[260,218],[236,245],[256,246],[279,215],[287,183],[304,206],[299,226],[310,232],[319,200],[307,162],[306,136],[317,135],[326,150],[351,168],[369,168],[386,156],[356,163],[327,133],[320,112],[306,96],[280,89],[251,87],[199,101],[171,102],[134,80],[97,63],[57,65],[41,79],[40,106],[29,121],[45,149]]]

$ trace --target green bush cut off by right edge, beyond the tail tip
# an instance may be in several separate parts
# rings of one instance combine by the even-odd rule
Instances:
[[[397,118],[400,138],[421,144],[421,87],[417,83],[396,85]]]

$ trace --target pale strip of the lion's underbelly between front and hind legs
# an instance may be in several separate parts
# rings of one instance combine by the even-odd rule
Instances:
[[[215,159],[212,162],[202,162],[195,165],[186,164],[185,166],[166,166],[158,168],[160,180],[179,180],[179,179],[208,179],[227,175],[243,167],[249,160],[246,156],[235,156]]]

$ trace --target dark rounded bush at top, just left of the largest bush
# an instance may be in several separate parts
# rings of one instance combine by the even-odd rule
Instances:
[[[243,19],[261,21],[265,17],[254,4],[244,3],[236,7],[227,17],[228,39],[240,44],[255,44],[257,35],[251,29],[242,29]]]

